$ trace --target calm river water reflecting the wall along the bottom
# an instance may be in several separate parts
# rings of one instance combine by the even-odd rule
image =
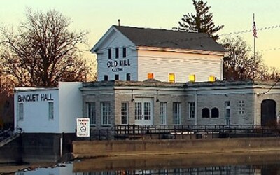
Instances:
[[[1,172],[0,172],[1,174]],[[279,153],[185,154],[94,158],[55,167],[22,169],[15,175],[280,174]]]

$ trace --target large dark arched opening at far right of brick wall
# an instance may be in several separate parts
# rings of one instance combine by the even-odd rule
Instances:
[[[276,123],[276,102],[265,99],[261,104],[261,125],[272,125]]]

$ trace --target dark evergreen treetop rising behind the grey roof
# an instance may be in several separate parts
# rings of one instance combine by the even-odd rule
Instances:
[[[223,29],[223,25],[215,26],[213,22],[213,14],[209,13],[210,6],[204,3],[202,0],[193,0],[196,14],[183,15],[182,21],[179,21],[179,27],[173,27],[173,29],[179,31],[197,31],[200,33],[207,33],[215,41],[219,38],[218,35],[214,35],[217,31]]]

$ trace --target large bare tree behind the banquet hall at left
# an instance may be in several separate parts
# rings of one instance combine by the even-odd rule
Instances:
[[[56,10],[33,12],[18,32],[2,28],[1,64],[19,85],[52,87],[59,81],[85,80],[90,71],[78,45],[86,43],[86,31],[69,30],[71,21]]]

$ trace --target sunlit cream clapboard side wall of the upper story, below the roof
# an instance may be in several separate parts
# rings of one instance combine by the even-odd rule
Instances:
[[[208,81],[209,76],[222,80],[221,56],[180,52],[139,51],[139,80],[146,80],[147,73],[154,78],[168,81],[169,73],[175,73],[176,82],[187,82],[195,74],[196,81]]]

